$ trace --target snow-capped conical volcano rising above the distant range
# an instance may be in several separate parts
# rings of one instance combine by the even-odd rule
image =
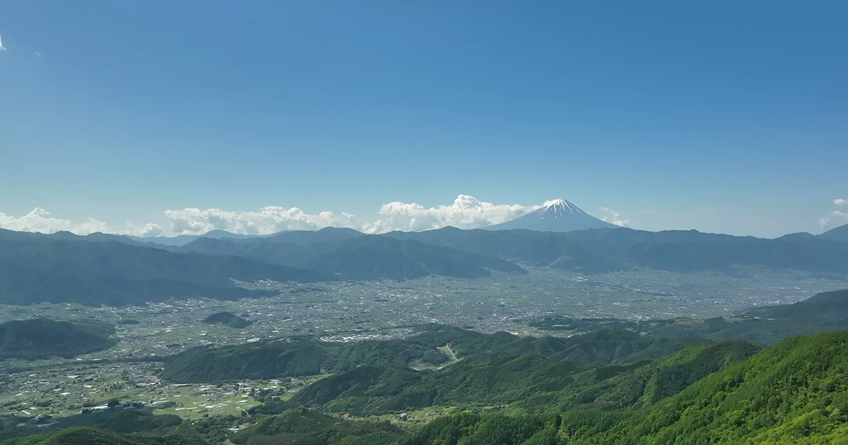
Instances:
[[[587,229],[616,229],[617,225],[599,220],[565,199],[544,203],[541,209],[519,216],[515,220],[483,227],[487,231],[584,231]]]

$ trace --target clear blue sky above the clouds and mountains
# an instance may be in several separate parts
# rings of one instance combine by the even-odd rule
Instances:
[[[555,197],[648,230],[848,222],[848,3],[202,5],[0,3],[0,225],[418,228],[378,211],[438,225],[460,194],[494,206],[466,226]]]

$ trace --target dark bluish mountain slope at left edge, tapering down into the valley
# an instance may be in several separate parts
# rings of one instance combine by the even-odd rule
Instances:
[[[326,275],[234,256],[170,253],[122,242],[45,236],[0,240],[0,303],[140,304],[166,298],[267,295],[242,281],[314,282]]]

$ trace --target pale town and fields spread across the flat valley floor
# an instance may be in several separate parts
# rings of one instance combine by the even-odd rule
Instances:
[[[569,274],[533,269],[528,275],[481,280],[428,277],[411,281],[295,284],[243,282],[275,297],[169,300],[126,307],[76,303],[3,305],[0,322],[32,317],[100,320],[117,326],[109,349],[73,359],[0,362],[0,415],[25,430],[51,431],[79,415],[120,407],[152,407],[186,419],[240,415],[265,401],[287,398],[321,375],[226,384],[173,384],[159,379],[163,360],[198,346],[221,346],[307,336],[324,342],[404,338],[422,325],[455,325],[522,336],[572,336],[528,324],[550,316],[668,320],[729,317],[754,306],[794,303],[844,286],[803,272],[746,270],[744,274],[656,270]],[[208,324],[219,312],[253,321],[243,329]],[[117,408],[117,407],[116,407]],[[92,417],[94,419],[94,417]]]

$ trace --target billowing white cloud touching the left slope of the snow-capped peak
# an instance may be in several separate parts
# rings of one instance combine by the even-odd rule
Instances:
[[[386,231],[426,231],[453,225],[460,229],[476,229],[515,219],[539,206],[494,204],[476,197],[460,195],[454,203],[426,208],[416,203],[388,203],[380,208],[381,218],[365,225],[366,233]]]

